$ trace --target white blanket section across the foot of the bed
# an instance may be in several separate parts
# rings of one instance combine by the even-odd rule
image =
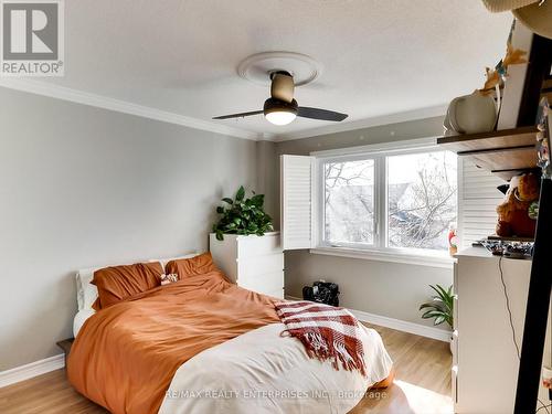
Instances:
[[[368,388],[385,379],[392,361],[381,337],[362,327],[368,376],[308,358],[283,323],[250,331],[208,349],[174,374],[159,414],[347,413]]]

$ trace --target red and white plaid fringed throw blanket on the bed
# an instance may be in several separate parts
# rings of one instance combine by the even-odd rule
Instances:
[[[358,370],[365,376],[364,351],[357,319],[343,308],[311,301],[275,304],[285,332],[299,339],[310,358],[330,360],[336,370]]]

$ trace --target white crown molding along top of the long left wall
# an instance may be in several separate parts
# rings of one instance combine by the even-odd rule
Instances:
[[[227,127],[225,125],[197,119],[167,110],[160,110],[149,106],[132,104],[127,100],[115,99],[103,95],[50,84],[46,82],[4,77],[0,78],[0,86],[231,137],[251,140],[263,139],[263,137],[257,132]]]

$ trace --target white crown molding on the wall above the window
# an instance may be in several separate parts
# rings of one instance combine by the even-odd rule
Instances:
[[[282,134],[272,138],[273,141],[282,142],[294,139],[318,137],[320,135],[344,132],[354,129],[363,129],[376,127],[381,125],[406,123],[408,120],[432,118],[435,116],[444,116],[446,114],[448,104],[429,106],[420,109],[406,110],[403,113],[389,114],[376,116],[372,118],[353,120],[350,123],[339,123],[332,125],[325,125],[323,127],[305,129],[296,132]]]

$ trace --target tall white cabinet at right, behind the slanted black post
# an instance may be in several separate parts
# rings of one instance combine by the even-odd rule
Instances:
[[[482,247],[467,248],[456,257],[452,375],[455,412],[512,413],[519,360],[499,265],[509,297],[516,340],[521,347],[531,261],[500,259]],[[551,363],[550,347],[549,321],[544,365]],[[549,403],[546,394],[541,386],[539,395],[544,403]]]

